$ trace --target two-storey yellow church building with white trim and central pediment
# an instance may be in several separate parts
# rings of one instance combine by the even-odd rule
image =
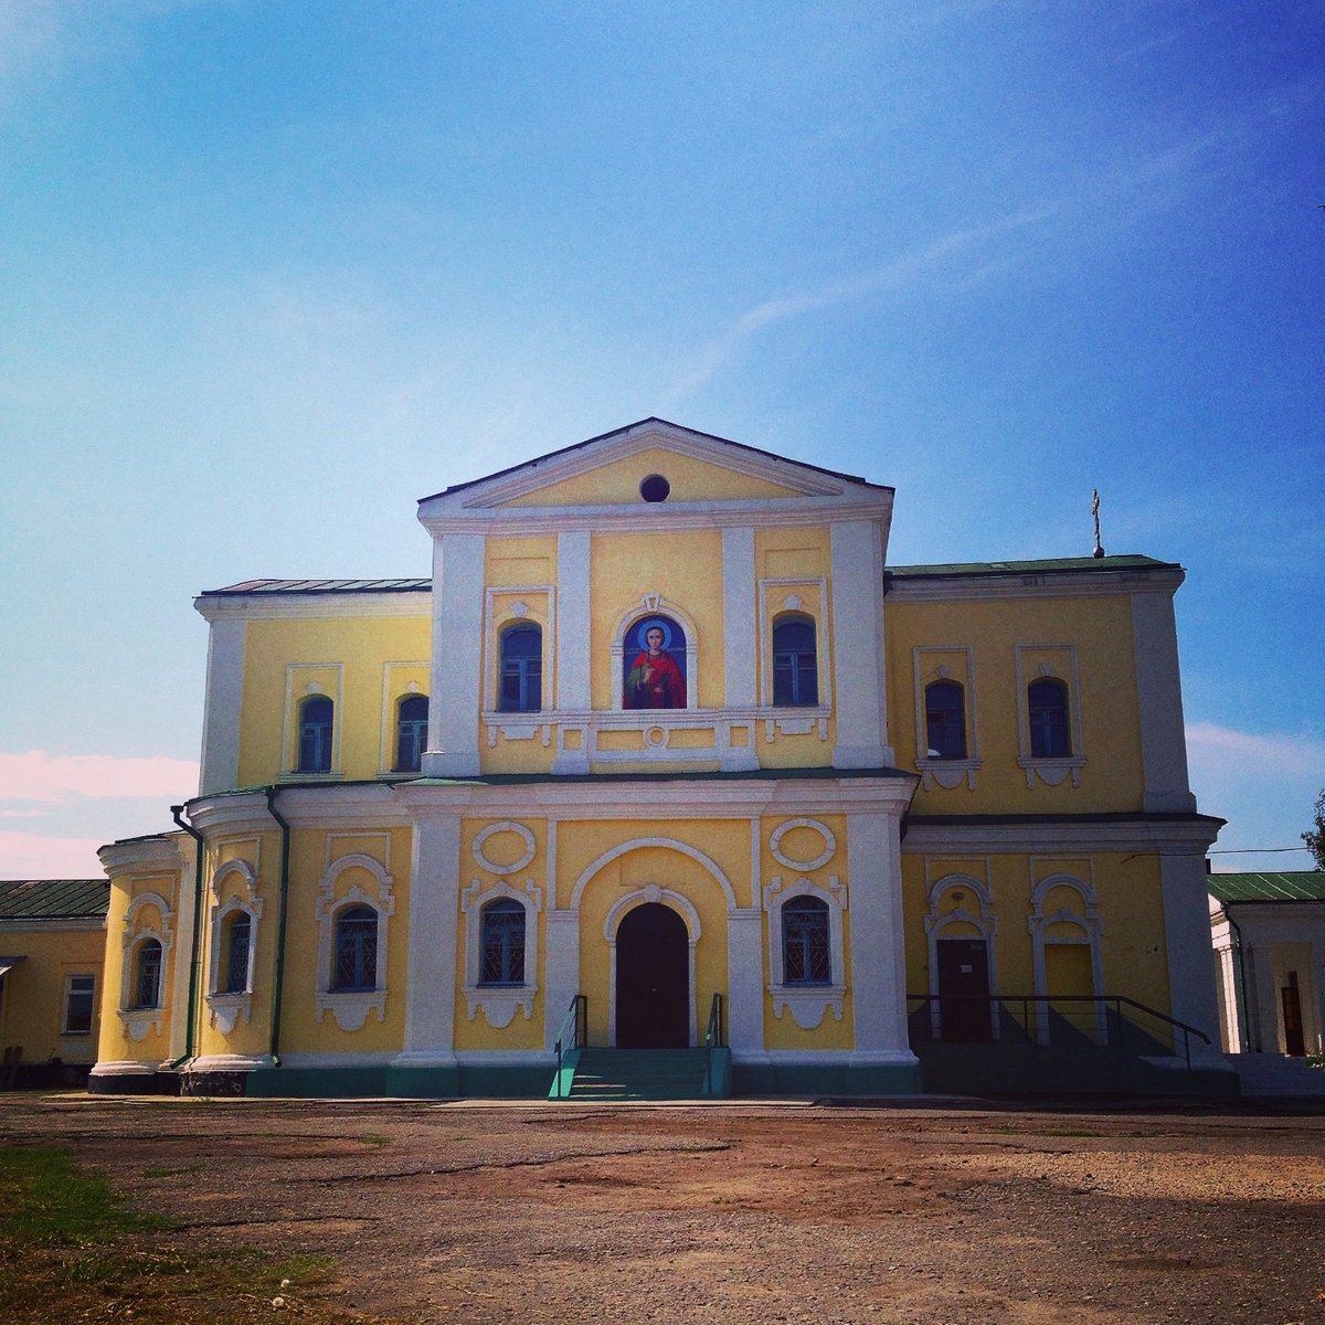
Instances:
[[[204,592],[91,1088],[1232,1089],[1183,571],[890,566],[893,496],[647,419],[425,497],[429,579]]]

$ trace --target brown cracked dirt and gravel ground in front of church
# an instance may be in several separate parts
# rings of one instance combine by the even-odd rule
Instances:
[[[338,1257],[346,1320],[1325,1325],[1320,1116],[26,1094],[0,1142]]]

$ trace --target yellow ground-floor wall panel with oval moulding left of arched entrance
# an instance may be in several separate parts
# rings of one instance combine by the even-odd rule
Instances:
[[[542,819],[521,819],[521,827],[531,833],[534,839],[534,852],[518,869],[510,867],[518,864],[527,853],[523,836],[502,827],[510,820],[505,819],[466,819],[460,831],[460,889],[456,926],[456,1048],[457,1049],[539,1049],[543,1045],[543,1007],[547,988],[545,962],[547,954],[547,906],[545,881],[547,878],[547,823]],[[476,859],[474,843],[480,833],[488,832],[481,843],[482,860]],[[485,867],[498,867],[493,871]],[[482,924],[478,908],[493,896],[497,885],[505,882],[509,888],[527,896],[526,888],[533,882],[538,890],[539,906],[534,917],[534,924],[525,930],[525,970],[529,978],[530,959],[537,959],[538,992],[530,1003],[530,1015],[526,1018],[523,1008],[517,1008],[515,1015],[505,1027],[493,1026],[488,1020],[485,1008],[476,1007],[473,1018],[469,1016],[469,1003],[465,998],[464,984],[469,973],[469,955],[473,950],[478,953],[480,926]],[[477,885],[477,905],[466,909],[466,898]],[[470,933],[470,926],[473,931]]]

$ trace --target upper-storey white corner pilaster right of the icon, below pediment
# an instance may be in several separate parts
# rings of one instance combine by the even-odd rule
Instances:
[[[884,673],[882,529],[873,521],[835,521],[832,533],[835,768],[893,763],[888,743]]]

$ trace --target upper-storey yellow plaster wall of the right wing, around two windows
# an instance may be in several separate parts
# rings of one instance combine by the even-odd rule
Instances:
[[[965,649],[974,660],[974,725],[980,768],[975,788],[961,780],[953,790],[937,783],[916,792],[914,814],[1096,814],[1140,810],[1142,804],[1141,722],[1133,662],[1132,599],[1117,596],[967,600],[888,604],[889,725],[897,761],[916,767],[917,705],[913,649],[917,645]],[[1048,786],[1039,776],[1027,786],[1019,767],[1020,690],[1036,680],[1037,661],[1049,661],[1071,685],[1064,649],[1023,649],[1018,682],[1018,645],[1075,645],[1081,714],[1081,784],[1065,776]],[[926,653],[921,685],[934,680],[942,657]],[[961,676],[954,672],[954,680]],[[967,694],[967,712],[973,705]]]

